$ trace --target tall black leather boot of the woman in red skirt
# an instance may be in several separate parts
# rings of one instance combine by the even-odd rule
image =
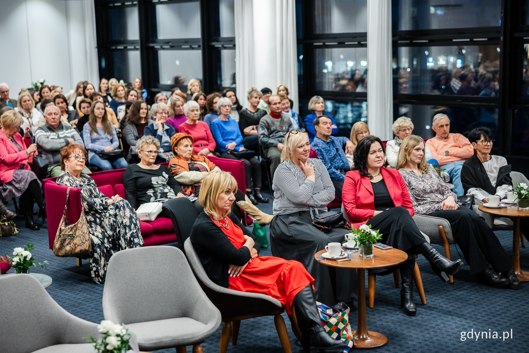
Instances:
[[[338,353],[345,348],[344,342],[335,340],[325,332],[311,284],[294,297],[293,304],[296,308],[299,329],[302,331],[302,345],[305,351],[308,349],[313,353]]]

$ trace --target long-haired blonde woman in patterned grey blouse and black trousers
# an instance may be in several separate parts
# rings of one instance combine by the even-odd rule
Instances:
[[[424,150],[422,137],[409,135],[403,140],[397,158],[396,169],[408,187],[415,213],[450,222],[454,238],[470,266],[470,274],[475,274],[479,282],[496,288],[508,285],[511,289],[520,289],[510,259],[494,232],[476,212],[457,203],[457,196],[435,168],[426,163]]]

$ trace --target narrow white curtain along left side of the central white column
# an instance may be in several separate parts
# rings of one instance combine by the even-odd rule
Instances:
[[[248,88],[255,86],[256,70],[253,39],[253,2],[235,0],[235,80],[236,95],[243,107],[248,106]],[[258,89],[261,89],[258,87]]]

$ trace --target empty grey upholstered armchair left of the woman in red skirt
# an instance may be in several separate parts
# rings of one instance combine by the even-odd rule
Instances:
[[[200,343],[221,324],[183,252],[171,246],[122,250],[108,261],[105,319],[124,323],[141,350],[203,352]]]

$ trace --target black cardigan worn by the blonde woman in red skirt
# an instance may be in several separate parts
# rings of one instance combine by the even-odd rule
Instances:
[[[233,213],[230,213],[229,218],[242,229],[245,236],[253,239],[255,242],[253,248],[259,253],[261,250],[259,240]],[[225,288],[229,285],[228,267],[231,264],[242,266],[252,258],[247,247],[235,248],[226,234],[205,212],[198,215],[189,238],[209,279]]]

